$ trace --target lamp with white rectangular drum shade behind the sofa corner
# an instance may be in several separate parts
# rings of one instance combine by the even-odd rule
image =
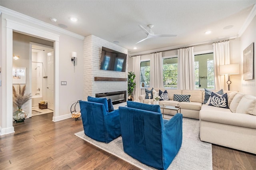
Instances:
[[[230,74],[239,74],[239,64],[220,65],[220,75],[228,75],[228,91],[230,91]]]

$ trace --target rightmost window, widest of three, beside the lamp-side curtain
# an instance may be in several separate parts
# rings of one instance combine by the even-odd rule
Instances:
[[[196,89],[214,89],[213,53],[195,55]]]

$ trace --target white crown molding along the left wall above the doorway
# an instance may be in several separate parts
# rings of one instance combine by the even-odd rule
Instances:
[[[62,28],[59,28],[57,26],[54,26],[54,25],[51,25],[51,24],[48,24],[46,22],[43,22],[41,20],[37,20],[35,18],[32,18],[30,16],[26,16],[24,14],[21,14],[19,12],[16,12],[14,10],[10,10],[8,8],[5,8],[3,6],[0,6],[0,14],[1,13],[4,13],[4,14],[8,14],[10,16],[14,16],[16,18],[19,18],[19,19],[22,19],[22,20],[25,20],[25,21],[28,21],[28,22],[31,22],[33,24],[36,24],[36,25],[39,25],[39,26],[42,26],[44,28],[48,28],[48,29],[51,29],[51,30],[54,30],[54,31],[57,31],[57,32],[60,32],[60,33],[63,33],[63,34],[66,34],[68,36],[72,36],[74,38],[78,38],[80,40],[84,40],[84,36],[81,36],[79,34],[75,34],[73,32],[70,32],[70,31],[67,31],[67,30],[64,30]]]

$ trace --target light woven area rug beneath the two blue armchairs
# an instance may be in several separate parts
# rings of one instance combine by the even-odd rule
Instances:
[[[212,144],[200,140],[199,121],[183,118],[182,131],[182,146],[168,170],[212,170]],[[154,170],[124,153],[121,136],[106,144],[86,136],[84,131],[77,132],[75,135],[142,170]]]

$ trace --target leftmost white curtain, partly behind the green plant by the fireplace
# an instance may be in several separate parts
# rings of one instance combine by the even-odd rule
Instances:
[[[139,101],[140,96],[140,55],[132,57],[132,72],[135,73],[135,89],[133,93],[133,101]]]

